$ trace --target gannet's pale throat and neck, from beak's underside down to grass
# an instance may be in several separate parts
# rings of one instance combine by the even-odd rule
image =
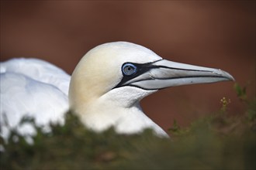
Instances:
[[[74,86],[71,82],[70,107],[87,128],[104,131],[114,127],[118,133],[123,134],[153,128],[156,134],[166,136],[166,133],[144,114],[139,103],[142,98],[156,90],[121,87],[99,95],[93,88],[78,88],[78,85]]]

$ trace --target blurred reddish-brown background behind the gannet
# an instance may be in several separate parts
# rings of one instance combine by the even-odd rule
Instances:
[[[165,59],[220,68],[255,95],[255,1],[1,1],[1,61],[35,57],[72,73],[104,42],[146,46]],[[239,114],[234,82],[160,90],[142,107],[162,128],[221,107]]]

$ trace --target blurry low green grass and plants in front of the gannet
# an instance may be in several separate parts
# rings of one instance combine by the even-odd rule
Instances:
[[[124,135],[110,128],[96,134],[71,112],[64,126],[51,124],[51,133],[34,124],[34,145],[12,131],[8,144],[0,138],[5,148],[1,169],[256,169],[256,102],[238,84],[235,90],[246,113],[229,114],[232,103],[223,98],[218,113],[188,128],[175,121],[171,138],[157,138],[150,129]]]

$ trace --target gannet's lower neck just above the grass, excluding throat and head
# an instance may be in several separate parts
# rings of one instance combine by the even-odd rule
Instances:
[[[133,104],[132,107],[119,107],[114,104],[96,101],[87,105],[85,112],[78,113],[81,121],[87,128],[93,131],[105,131],[113,127],[119,134],[136,134],[145,128],[152,128],[159,136],[168,136],[154,121],[141,110],[140,104]]]

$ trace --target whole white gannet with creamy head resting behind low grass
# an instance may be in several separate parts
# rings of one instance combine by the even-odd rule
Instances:
[[[29,69],[33,59],[32,62],[31,59],[22,60],[25,71],[22,66],[16,66],[20,59],[11,61],[9,65],[8,61],[1,63],[0,78],[1,116],[5,113],[12,127],[17,125],[14,117],[20,117],[21,110],[31,110],[36,121],[47,125],[49,121],[63,121],[64,110],[70,108],[87,128],[94,131],[113,126],[118,133],[132,134],[152,128],[155,134],[168,136],[144,114],[141,99],[166,87],[234,80],[223,70],[171,62],[131,42],[109,42],[96,46],[81,58],[71,76],[68,104],[70,76],[38,59],[34,61],[42,65],[39,67],[49,65],[53,71],[49,73],[49,69],[37,67],[36,71]],[[10,67],[15,71],[8,69]],[[61,89],[60,83],[64,88]],[[12,119],[16,121],[12,122]]]

